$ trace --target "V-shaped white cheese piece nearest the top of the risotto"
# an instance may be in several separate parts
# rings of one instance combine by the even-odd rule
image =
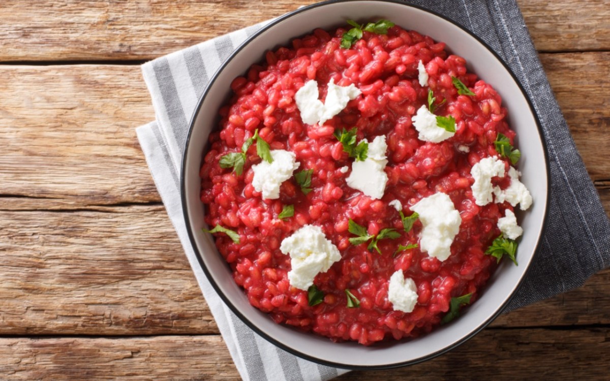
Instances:
[[[295,94],[296,107],[301,113],[301,119],[306,124],[324,124],[327,120],[340,113],[352,99],[362,94],[354,84],[349,86],[335,85],[334,79],[328,82],[326,100],[318,99],[318,82],[309,80]]]

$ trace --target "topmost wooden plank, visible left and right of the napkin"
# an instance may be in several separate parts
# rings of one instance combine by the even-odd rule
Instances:
[[[148,60],[314,2],[5,0],[0,61]],[[610,49],[608,0],[518,2],[537,49]]]

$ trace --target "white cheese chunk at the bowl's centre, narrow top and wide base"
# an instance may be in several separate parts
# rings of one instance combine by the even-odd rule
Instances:
[[[368,140],[363,139],[368,143]],[[346,179],[347,185],[361,191],[372,199],[381,199],[386,191],[386,137],[381,135],[368,144],[367,158],[351,165],[350,176]]]

